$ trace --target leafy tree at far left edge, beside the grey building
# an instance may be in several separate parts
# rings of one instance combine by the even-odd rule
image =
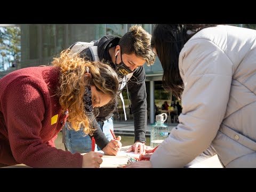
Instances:
[[[20,27],[1,27],[0,28],[0,50],[3,62],[7,62],[9,67],[14,67],[13,63],[20,63],[21,46]],[[4,65],[4,63],[3,63]]]

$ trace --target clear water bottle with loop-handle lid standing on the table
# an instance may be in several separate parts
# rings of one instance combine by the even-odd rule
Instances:
[[[164,116],[165,115],[165,118]],[[156,147],[168,137],[168,126],[164,124],[167,114],[156,115],[156,123],[151,125],[150,147]]]

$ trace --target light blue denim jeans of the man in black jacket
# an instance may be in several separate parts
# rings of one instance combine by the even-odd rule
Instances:
[[[107,139],[109,141],[113,139],[110,132],[110,129],[114,130],[113,117],[110,117],[105,122],[102,122],[102,123],[98,122],[98,123],[100,125],[100,129],[106,135]],[[89,137],[89,135],[86,135],[84,133],[83,129],[80,129],[79,131],[75,131],[73,129],[68,129],[67,125],[65,126],[66,126],[66,147],[68,151],[75,154],[77,152],[88,153],[92,150],[92,140]],[[97,146],[97,149],[101,150],[98,146]]]

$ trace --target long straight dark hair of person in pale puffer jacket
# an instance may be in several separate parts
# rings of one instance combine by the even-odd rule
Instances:
[[[185,43],[199,30],[215,27],[218,24],[157,24],[155,25],[151,46],[155,48],[162,64],[163,86],[167,91],[181,99],[184,85],[179,71],[179,54]],[[188,35],[187,31],[194,31]]]

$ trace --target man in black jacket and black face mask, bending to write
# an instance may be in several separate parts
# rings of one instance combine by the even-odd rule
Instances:
[[[129,150],[135,153],[137,153],[138,149],[142,153],[146,147],[144,143],[146,142],[147,95],[145,85],[146,74],[143,64],[146,62],[148,66],[153,65],[156,57],[150,43],[151,35],[141,26],[132,26],[129,32],[122,38],[107,35],[94,43],[94,45],[98,46],[99,60],[116,70],[119,76],[119,91],[121,92],[126,87],[128,95],[129,93],[131,95],[135,138],[134,145]],[[78,43],[73,44],[70,47],[71,51],[73,49],[79,50],[78,53],[84,59],[95,60],[97,55],[93,55],[89,48],[83,49],[83,45],[79,47],[77,45]],[[92,124],[96,129],[92,136],[95,138],[99,148],[107,155],[116,155],[118,151],[116,145],[111,142],[112,138],[106,138],[105,136],[105,134],[110,133],[109,129],[113,130],[112,116],[115,108],[116,104],[111,102],[106,106],[98,108],[99,115],[96,117],[96,120],[91,115],[93,119]],[[104,125],[104,123],[108,124],[108,126]],[[91,150],[91,139],[88,136],[84,137],[83,129],[76,132],[66,127],[63,131],[66,131],[66,134],[63,134],[66,149],[71,151],[71,153],[87,153]],[[117,140],[119,140],[119,137]]]

